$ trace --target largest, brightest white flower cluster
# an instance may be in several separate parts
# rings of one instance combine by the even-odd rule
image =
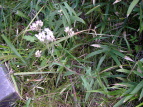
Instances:
[[[39,34],[35,34],[35,36],[41,41],[41,42],[53,42],[55,41],[55,37],[53,35],[53,32],[49,28],[45,28],[42,32]]]

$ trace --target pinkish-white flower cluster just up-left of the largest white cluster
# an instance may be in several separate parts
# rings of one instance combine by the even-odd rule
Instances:
[[[32,23],[32,25],[30,25],[30,30],[39,31],[42,26],[43,22],[41,20],[37,20],[36,22]]]

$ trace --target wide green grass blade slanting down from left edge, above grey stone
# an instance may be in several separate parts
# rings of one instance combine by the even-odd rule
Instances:
[[[10,40],[8,40],[8,38],[5,35],[1,35],[2,38],[5,40],[5,42],[7,43],[7,45],[10,47],[10,49],[21,59],[21,61],[26,64],[25,60],[22,58],[22,56],[18,53],[18,51],[16,50],[16,48],[14,47],[14,45],[10,42]]]

